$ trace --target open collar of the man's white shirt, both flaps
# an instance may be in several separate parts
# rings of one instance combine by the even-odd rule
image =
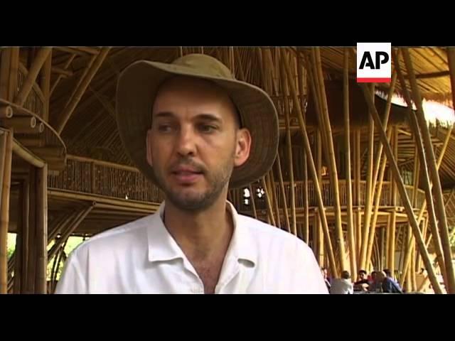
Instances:
[[[233,258],[237,261],[250,261],[250,263],[255,265],[257,264],[257,243],[242,216],[237,213],[237,210],[230,202],[227,201],[226,203],[226,208],[232,215],[234,224],[234,233],[232,234],[226,258]],[[186,256],[183,251],[164,226],[164,207],[165,202],[162,202],[159,210],[151,216],[151,222],[147,228],[149,261],[185,259]]]

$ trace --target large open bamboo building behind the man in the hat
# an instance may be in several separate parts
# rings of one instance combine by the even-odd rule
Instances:
[[[334,276],[388,268],[407,291],[455,293],[455,119],[426,105],[454,107],[455,49],[392,48],[392,81],[370,84],[355,48],[322,47],[0,48],[0,293],[52,293],[70,236],[156,211],[163,194],[117,132],[117,77],[188,53],[277,106],[279,155],[230,190],[240,213],[303,239]]]

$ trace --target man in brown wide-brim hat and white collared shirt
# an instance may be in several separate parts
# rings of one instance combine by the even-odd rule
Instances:
[[[304,242],[227,201],[277,156],[277,112],[264,91],[208,55],[139,61],[119,77],[117,124],[166,199],[73,251],[57,293],[327,293]]]

